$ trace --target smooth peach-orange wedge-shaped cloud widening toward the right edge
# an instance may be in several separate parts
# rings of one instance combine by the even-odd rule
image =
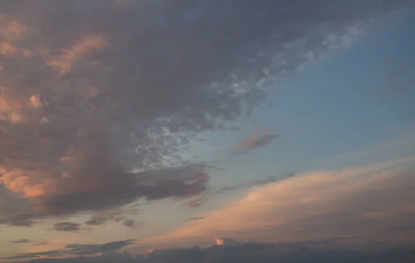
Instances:
[[[415,242],[398,232],[415,219],[415,172],[408,157],[367,167],[304,172],[250,188],[245,197],[204,212],[192,221],[145,242],[160,246],[205,244],[227,235],[262,242],[301,241],[347,235],[358,240]]]

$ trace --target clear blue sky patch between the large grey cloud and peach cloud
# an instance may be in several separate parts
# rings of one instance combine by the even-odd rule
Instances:
[[[252,177],[329,168],[322,166],[322,162],[333,156],[413,134],[415,91],[397,91],[394,87],[382,90],[380,85],[390,72],[379,73],[379,68],[387,65],[387,57],[403,61],[414,57],[412,23],[412,17],[402,19],[393,27],[363,37],[347,50],[333,52],[281,84],[269,87],[268,101],[277,102],[277,106],[268,107],[264,103],[252,118],[279,138],[265,149],[226,163],[228,170],[220,176],[228,176],[217,180],[232,184]],[[386,44],[376,48],[379,43]],[[373,90],[375,93],[369,93]],[[249,124],[244,127],[248,133],[258,129]],[[226,147],[232,149],[232,144],[239,140],[235,131],[228,134],[219,139],[224,143],[223,152]],[[382,156],[368,158],[349,165],[382,160]]]

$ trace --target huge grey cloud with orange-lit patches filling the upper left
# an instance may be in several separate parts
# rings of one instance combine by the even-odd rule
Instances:
[[[0,223],[200,194],[208,171],[181,158],[189,141],[249,116],[356,24],[413,5],[1,1],[0,183],[30,208]]]

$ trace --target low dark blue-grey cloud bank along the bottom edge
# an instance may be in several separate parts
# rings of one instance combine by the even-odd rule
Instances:
[[[115,242],[114,242],[115,243]],[[126,242],[118,244],[118,248]],[[128,242],[127,242],[128,244]],[[105,251],[104,245],[74,245],[71,248],[79,248],[68,255],[92,255],[96,251]],[[113,248],[111,244],[108,248]],[[110,250],[110,249],[108,249]],[[114,251],[112,249],[111,251]],[[42,255],[59,255],[56,251],[44,252]],[[38,257],[37,254],[26,254],[28,257]],[[61,254],[62,255],[62,254]],[[30,257],[29,257],[30,256]],[[15,257],[18,258],[18,257]],[[24,258],[24,255],[21,255]],[[174,248],[170,250],[160,249],[152,251],[148,255],[137,255],[131,258],[125,254],[107,254],[102,257],[75,257],[64,259],[30,260],[33,263],[68,263],[68,262],[243,262],[243,263],[268,263],[268,262],[362,262],[362,263],[411,263],[415,258],[413,247],[396,247],[376,244],[375,248],[349,248],[341,244],[341,240],[329,239],[322,242],[276,243],[266,244],[261,242],[236,242],[229,239],[221,245],[202,248],[192,246],[190,248]]]

